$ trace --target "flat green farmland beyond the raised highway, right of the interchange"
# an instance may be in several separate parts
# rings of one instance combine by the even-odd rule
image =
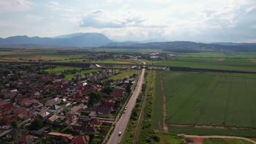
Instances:
[[[178,53],[177,59],[173,61],[145,61],[159,65],[256,71],[255,53],[240,53],[234,56],[223,53]]]

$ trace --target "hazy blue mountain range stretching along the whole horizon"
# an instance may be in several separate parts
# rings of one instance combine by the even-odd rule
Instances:
[[[145,41],[110,40],[101,33],[73,33],[53,38],[15,36],[0,38],[2,46],[77,46],[118,49],[161,49],[172,52],[235,51],[255,52],[256,43],[195,43],[191,41],[168,41],[150,39]]]

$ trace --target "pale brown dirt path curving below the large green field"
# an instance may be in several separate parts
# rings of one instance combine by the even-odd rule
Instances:
[[[210,135],[210,136],[199,136],[199,135],[184,135],[185,137],[189,137],[191,139],[195,139],[195,138],[201,138],[201,139],[207,139],[207,138],[227,138],[227,139],[240,139],[240,140],[246,140],[249,142],[252,142],[254,144],[256,144],[256,141],[248,139],[246,137],[237,137],[237,136],[219,136],[219,135]]]

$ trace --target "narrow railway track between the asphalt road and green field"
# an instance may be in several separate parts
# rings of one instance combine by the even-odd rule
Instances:
[[[149,77],[150,77],[151,75],[152,75],[152,70],[150,70]],[[149,79],[148,86],[147,86],[147,89],[146,89],[146,91],[145,91],[145,95],[144,95],[144,99],[143,99],[143,103],[142,103],[142,107],[141,107],[141,112],[139,113],[139,119],[138,119],[136,131],[135,131],[135,134],[134,134],[134,137],[133,137],[133,140],[132,140],[132,143],[133,143],[133,144],[136,143],[136,139],[137,139],[137,136],[138,136],[139,126],[141,125],[141,118],[142,118],[142,115],[143,115],[144,105],[145,105],[145,103],[146,103],[148,91],[149,91],[149,88],[150,88],[150,83],[151,83],[151,79]]]

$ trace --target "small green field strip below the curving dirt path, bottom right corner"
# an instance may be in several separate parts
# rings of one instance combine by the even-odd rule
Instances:
[[[238,140],[238,139],[205,139],[203,140],[204,144],[252,144],[252,142],[246,140]]]

